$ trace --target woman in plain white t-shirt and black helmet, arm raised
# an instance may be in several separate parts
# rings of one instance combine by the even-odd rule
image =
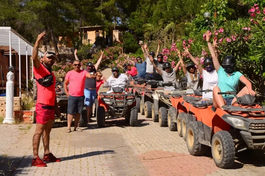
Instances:
[[[188,49],[186,48],[184,50],[186,54],[189,55],[193,63],[197,65],[197,68],[200,74],[202,75],[202,78],[203,78],[202,90],[206,90],[206,89],[213,90],[213,88],[217,86],[218,84],[218,75],[213,65],[213,59],[209,57],[206,57],[204,59],[204,66],[206,67],[206,70],[204,70],[199,64],[199,62],[191,55],[191,53],[189,53]],[[213,92],[202,93],[201,101],[204,101],[204,100],[207,101],[207,100],[212,100],[212,99],[213,99]]]

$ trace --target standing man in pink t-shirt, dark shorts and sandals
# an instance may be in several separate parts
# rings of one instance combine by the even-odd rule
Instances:
[[[80,115],[83,111],[85,102],[84,89],[86,78],[95,78],[95,75],[88,73],[86,70],[80,70],[80,60],[75,60],[73,63],[74,70],[67,72],[64,80],[64,92],[68,97],[67,108],[67,130],[65,132],[71,132],[71,123],[74,118],[74,131],[82,131],[78,126]],[[67,90],[67,85],[69,87]]]

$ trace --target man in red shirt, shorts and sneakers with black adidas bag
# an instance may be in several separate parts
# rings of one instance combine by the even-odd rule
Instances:
[[[56,54],[51,51],[46,51],[43,56],[43,63],[38,59],[39,43],[44,39],[45,32],[38,35],[37,41],[33,48],[33,72],[37,81],[37,103],[36,103],[36,131],[33,136],[33,160],[32,166],[46,167],[43,161],[59,162],[61,159],[56,158],[50,153],[50,132],[54,121],[54,114],[61,115],[58,108],[55,96],[55,76],[52,73],[51,67],[55,62]],[[38,156],[39,142],[42,135],[44,156],[41,160]]]

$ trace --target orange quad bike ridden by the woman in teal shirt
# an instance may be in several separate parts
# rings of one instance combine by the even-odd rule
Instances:
[[[191,155],[203,155],[211,147],[219,168],[233,165],[235,154],[246,149],[265,149],[265,107],[255,97],[237,97],[233,105],[215,109],[212,101],[191,102],[186,123],[187,148]]]

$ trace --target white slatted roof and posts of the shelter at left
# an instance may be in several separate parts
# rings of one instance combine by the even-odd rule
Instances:
[[[9,63],[11,65],[11,44],[12,48],[18,51],[19,55],[19,97],[21,97],[21,64],[20,64],[20,55],[26,55],[26,77],[27,77],[27,94],[28,94],[28,56],[32,56],[32,50],[34,45],[27,41],[24,37],[19,35],[14,29],[11,27],[0,27],[0,46],[9,46]],[[28,47],[31,47],[31,52],[28,52]],[[43,56],[44,53],[39,50],[39,56]],[[32,70],[31,70],[31,78],[33,78],[33,62]]]

